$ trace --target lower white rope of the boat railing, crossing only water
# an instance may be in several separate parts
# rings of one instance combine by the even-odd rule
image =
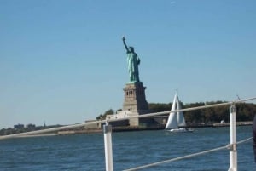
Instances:
[[[253,139],[253,138],[251,137],[251,138],[248,138],[248,139],[245,139],[245,140],[241,140],[241,141],[237,142],[236,145],[244,143],[247,140],[251,140],[251,139]],[[164,161],[161,161],[161,162],[154,162],[154,163],[151,163],[151,164],[139,166],[139,167],[136,167],[136,168],[125,169],[123,171],[133,171],[133,170],[138,170],[138,169],[143,169],[143,168],[151,168],[151,167],[154,167],[156,165],[164,164],[166,162],[174,162],[174,161],[178,161],[178,160],[183,160],[183,159],[186,159],[186,158],[196,157],[196,156],[200,156],[200,155],[204,155],[204,154],[207,154],[207,153],[210,153],[210,152],[220,151],[220,150],[224,150],[224,149],[230,149],[230,144],[229,145],[224,145],[224,146],[221,146],[221,147],[218,147],[218,148],[214,148],[214,149],[208,150],[208,151],[201,151],[201,152],[197,152],[197,153],[194,153],[194,154],[189,154],[189,155],[186,155],[186,156],[183,156],[183,157],[172,158],[172,159],[164,160]]]

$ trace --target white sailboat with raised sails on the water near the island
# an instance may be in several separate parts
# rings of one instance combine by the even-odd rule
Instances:
[[[171,132],[192,132],[192,129],[184,128],[186,127],[185,117],[183,116],[183,111],[181,110],[181,104],[177,97],[177,91],[172,102],[172,109],[166,123],[166,129]]]

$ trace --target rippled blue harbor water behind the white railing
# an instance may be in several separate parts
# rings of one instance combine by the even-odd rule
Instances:
[[[252,137],[251,126],[237,127],[237,141]],[[230,128],[195,128],[193,133],[165,130],[113,133],[113,168],[124,170],[207,151],[230,143]],[[256,170],[253,140],[237,145],[238,170]],[[168,162],[142,170],[224,171],[230,151]],[[16,138],[0,141],[0,170],[105,170],[103,134]]]

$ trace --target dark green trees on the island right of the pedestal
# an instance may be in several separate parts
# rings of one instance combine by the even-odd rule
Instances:
[[[183,105],[182,108],[191,108],[203,105],[214,105],[219,103],[224,103],[225,101],[216,102],[199,102]],[[160,111],[170,111],[172,103],[162,104],[162,103],[149,103],[148,107],[153,112]],[[207,109],[195,110],[195,111],[185,111],[183,112],[187,123],[219,123],[224,120],[225,122],[230,122],[230,105],[223,105],[218,107],[212,107]],[[236,104],[236,121],[253,121],[253,117],[256,114],[256,105],[241,103]]]

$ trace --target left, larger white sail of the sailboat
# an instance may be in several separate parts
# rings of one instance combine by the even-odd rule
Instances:
[[[171,109],[170,115],[168,117],[168,121],[166,123],[166,129],[178,128],[177,113],[173,112],[176,110],[176,104],[177,104],[177,93],[175,94],[173,102],[172,102],[172,109]]]

